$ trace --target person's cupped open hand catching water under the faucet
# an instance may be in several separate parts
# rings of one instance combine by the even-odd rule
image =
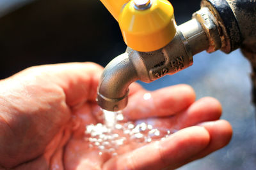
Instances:
[[[130,86],[125,117],[177,129],[164,141],[125,146],[122,154],[99,156],[84,130],[97,124],[95,102],[102,67],[90,62],[30,67],[0,81],[2,169],[175,169],[227,145],[232,128],[219,120],[212,97],[195,101],[188,85],[147,93]],[[148,157],[150,153],[150,157]]]

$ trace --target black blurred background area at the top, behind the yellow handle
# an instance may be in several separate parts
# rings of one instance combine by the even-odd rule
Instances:
[[[199,0],[173,1],[177,23]],[[26,67],[72,61],[102,66],[125,51],[118,23],[99,0],[0,0],[0,76]]]

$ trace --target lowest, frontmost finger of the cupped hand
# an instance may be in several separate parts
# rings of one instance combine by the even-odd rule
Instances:
[[[103,169],[174,169],[209,144],[210,136],[204,127],[182,129],[164,141],[150,143],[130,153],[109,160]],[[150,154],[150,155],[148,155]]]

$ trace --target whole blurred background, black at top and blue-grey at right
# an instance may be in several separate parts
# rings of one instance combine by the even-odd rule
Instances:
[[[200,0],[171,3],[178,25],[200,8]],[[0,0],[0,78],[40,64],[93,61],[106,66],[124,51],[118,23],[99,0]],[[141,84],[155,90],[178,83],[191,85],[197,99],[216,97],[222,118],[234,129],[227,147],[180,169],[255,169],[250,63],[241,52],[202,52],[188,69]]]

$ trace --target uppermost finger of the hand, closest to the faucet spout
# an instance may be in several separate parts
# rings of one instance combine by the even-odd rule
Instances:
[[[139,90],[129,97],[124,115],[131,119],[163,117],[185,110],[195,101],[195,92],[188,85],[175,85],[154,92]]]

